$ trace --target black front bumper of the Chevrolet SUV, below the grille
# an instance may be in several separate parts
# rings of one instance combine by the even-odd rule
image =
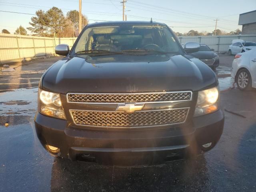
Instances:
[[[189,128],[157,130],[90,130],[72,127],[66,120],[37,113],[37,136],[46,145],[60,149],[58,156],[111,165],[149,165],[201,154],[213,148],[223,131],[224,114],[193,118]],[[203,144],[212,143],[209,148]]]

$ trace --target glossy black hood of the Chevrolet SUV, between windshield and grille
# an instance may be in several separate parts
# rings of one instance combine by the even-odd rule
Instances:
[[[42,77],[44,90],[68,92],[198,91],[218,84],[191,56],[111,55],[64,58]]]

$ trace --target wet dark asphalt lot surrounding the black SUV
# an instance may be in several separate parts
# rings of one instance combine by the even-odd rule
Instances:
[[[226,117],[216,147],[197,158],[146,167],[99,166],[50,156],[36,137],[33,118],[40,77],[59,58],[0,71],[0,192],[256,191],[256,90],[227,90],[233,58],[220,55],[216,71]]]

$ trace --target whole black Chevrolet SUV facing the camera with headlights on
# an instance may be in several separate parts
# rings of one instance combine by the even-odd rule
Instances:
[[[224,115],[218,79],[158,22],[88,24],[42,76],[37,136],[54,156],[148,165],[202,154]]]

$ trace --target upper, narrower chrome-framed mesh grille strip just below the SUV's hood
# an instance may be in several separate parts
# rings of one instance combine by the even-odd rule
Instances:
[[[152,92],[152,93],[126,93],[126,94],[82,94],[68,93],[68,102],[97,102],[97,103],[123,103],[123,102],[164,102],[191,100],[192,92]]]

